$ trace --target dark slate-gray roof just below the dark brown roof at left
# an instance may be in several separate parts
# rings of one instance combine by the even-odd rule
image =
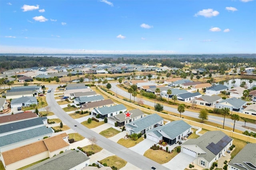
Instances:
[[[46,117],[38,117],[35,119],[29,119],[26,121],[20,121],[20,122],[14,122],[14,123],[9,123],[6,125],[1,125],[0,126],[0,134],[6,133],[6,132],[11,132],[14,130],[19,130],[22,128],[28,128],[28,127],[34,127],[37,125],[43,125],[43,120],[47,119]]]

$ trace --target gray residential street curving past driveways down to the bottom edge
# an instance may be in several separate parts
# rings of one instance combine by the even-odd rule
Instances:
[[[165,166],[162,166],[161,164],[158,164],[157,162],[154,162],[153,160],[150,160],[146,158],[145,156],[142,156],[120,144],[117,144],[116,142],[113,142],[112,140],[109,140],[108,138],[105,138],[104,136],[101,136],[100,134],[90,130],[89,128],[84,127],[80,123],[78,123],[76,120],[72,119],[67,113],[65,113],[58,103],[54,99],[54,90],[57,86],[48,86],[49,88],[52,88],[52,92],[48,93],[46,95],[46,101],[51,109],[51,111],[68,127],[75,128],[76,132],[84,136],[85,138],[90,138],[92,136],[97,138],[97,144],[108,150],[109,152],[117,155],[118,157],[126,160],[127,162],[133,164],[134,166],[137,166],[138,168],[142,170],[150,170],[152,166],[154,166],[158,170],[168,170]],[[76,125],[76,127],[74,127]]]

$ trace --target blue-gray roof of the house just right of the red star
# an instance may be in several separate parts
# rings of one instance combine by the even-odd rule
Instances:
[[[154,113],[152,115],[147,115],[145,117],[142,117],[141,119],[128,123],[126,124],[126,126],[132,128],[132,132],[138,133],[162,120],[164,120],[162,117]]]

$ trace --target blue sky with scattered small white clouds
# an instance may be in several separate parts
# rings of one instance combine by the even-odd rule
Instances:
[[[1,0],[0,53],[256,53],[256,1]]]

